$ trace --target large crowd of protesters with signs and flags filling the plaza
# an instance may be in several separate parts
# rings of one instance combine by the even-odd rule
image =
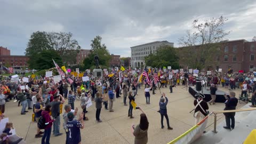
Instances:
[[[129,103],[128,115],[130,118],[133,116],[133,106],[132,102],[135,102],[135,97],[138,95],[138,89],[144,89],[145,101],[147,105],[150,105],[150,91],[153,91],[152,94],[155,94],[155,90],[162,89],[162,87],[167,87],[169,85],[170,93],[173,92],[173,87],[176,85],[195,85],[196,81],[206,81],[205,86],[209,86],[209,89],[212,94],[212,100],[209,102],[214,105],[214,95],[217,91],[217,85],[222,85],[229,89],[241,88],[243,94],[247,94],[247,91],[252,90],[252,107],[255,106],[255,89],[256,86],[253,83],[254,75],[250,74],[221,74],[221,73],[212,73],[204,74],[199,73],[197,77],[193,74],[183,73],[181,71],[167,70],[158,72],[158,81],[155,83],[155,77],[153,70],[148,72],[149,82],[147,78],[140,78],[141,72],[136,71],[135,74],[132,73],[123,73],[122,76],[119,76],[120,73],[115,73],[113,76],[104,75],[102,78],[92,77],[90,74],[87,76],[90,77],[89,81],[83,81],[82,77],[74,77],[71,75],[66,75],[62,77],[61,81],[54,82],[51,78],[29,78],[29,82],[11,82],[10,79],[6,79],[1,83],[0,89],[0,110],[2,113],[5,112],[5,102],[16,99],[18,106],[21,103],[21,115],[26,115],[29,110],[33,110],[35,113],[35,122],[41,122],[44,119],[45,127],[44,131],[37,128],[35,133],[35,138],[42,138],[42,143],[50,143],[50,135],[53,131],[53,135],[58,137],[62,135],[60,133],[60,121],[63,119],[63,129],[66,132],[66,143],[80,143],[81,142],[81,133],[80,129],[84,127],[84,121],[89,120],[86,117],[86,106],[89,100],[95,102],[96,114],[95,120],[100,123],[100,113],[102,105],[109,112],[114,112],[114,100],[121,97],[123,94],[123,103],[124,106],[127,106]],[[73,83],[70,84],[68,79],[71,78]],[[143,88],[143,85],[145,87]],[[159,86],[160,85],[160,86]],[[107,98],[103,96],[107,95]],[[234,95],[234,93],[230,93]],[[79,97],[81,99],[80,106],[75,106],[75,100]],[[128,97],[128,98],[127,98]],[[235,97],[235,95],[234,95]],[[254,99],[254,100],[253,100]],[[63,115],[60,115],[60,105],[67,101],[67,105],[64,106],[65,112]],[[228,98],[226,106],[231,105],[233,97]],[[198,106],[199,101],[195,101],[194,105]],[[173,130],[169,123],[169,117],[167,115],[166,105],[168,103],[165,93],[161,93],[161,98],[159,99],[159,113],[161,114],[161,128],[164,129],[163,117],[165,117],[167,122],[167,129]],[[204,102],[201,105],[205,105]],[[235,102],[233,102],[234,104]],[[207,105],[207,103],[206,103]],[[206,116],[206,110],[208,106],[205,105],[204,110],[196,108],[196,111],[201,111],[201,113]],[[235,104],[234,104],[235,105]],[[78,108],[81,107],[81,114],[78,114]],[[149,122],[145,112],[141,107],[137,107],[142,111],[140,115],[140,124],[135,126],[132,125],[133,135],[135,136],[135,143],[147,143],[147,130]],[[234,106],[233,106],[234,109]],[[50,115],[51,112],[51,115]],[[196,114],[197,115],[197,114]],[[198,115],[199,116],[199,115]],[[198,117],[196,116],[196,117]],[[62,117],[62,118],[61,118]],[[227,115],[227,128],[234,128],[234,116]],[[228,123],[228,119],[231,119],[231,126]]]

